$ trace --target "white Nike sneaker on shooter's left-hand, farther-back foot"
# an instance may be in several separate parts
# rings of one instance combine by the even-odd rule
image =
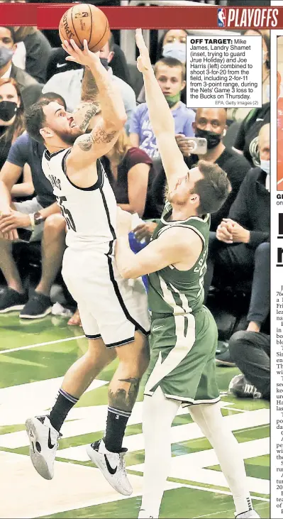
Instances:
[[[30,459],[35,470],[44,479],[52,479],[60,432],[52,427],[48,416],[28,418],[26,432],[30,440]]]

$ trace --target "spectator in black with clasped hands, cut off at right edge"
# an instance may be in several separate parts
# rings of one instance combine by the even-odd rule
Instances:
[[[228,218],[211,239],[204,290],[207,295],[213,269],[233,283],[253,280],[248,332],[260,332],[270,312],[270,125],[259,136],[260,167],[251,169],[240,186]]]

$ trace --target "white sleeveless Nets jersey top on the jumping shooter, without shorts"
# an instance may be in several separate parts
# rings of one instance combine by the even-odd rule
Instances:
[[[112,253],[116,239],[116,199],[100,160],[96,161],[97,182],[77,187],[66,175],[66,159],[72,148],[43,153],[43,173],[50,181],[57,203],[67,222],[66,245],[96,248]]]

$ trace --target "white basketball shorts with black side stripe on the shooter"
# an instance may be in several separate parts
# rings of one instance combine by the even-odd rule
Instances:
[[[121,278],[113,256],[67,248],[62,276],[77,301],[84,334],[109,347],[133,342],[135,330],[150,333],[148,296],[141,278]]]

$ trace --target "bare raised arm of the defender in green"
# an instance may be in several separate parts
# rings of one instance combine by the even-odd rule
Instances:
[[[188,167],[184,163],[183,155],[175,141],[174,119],[156,80],[141,29],[136,29],[135,39],[140,51],[137,66],[138,70],[143,74],[145,99],[148,104],[150,123],[153,133],[155,133],[157,148],[165,169],[167,181],[170,182],[170,178],[176,175],[179,177],[186,175]]]

